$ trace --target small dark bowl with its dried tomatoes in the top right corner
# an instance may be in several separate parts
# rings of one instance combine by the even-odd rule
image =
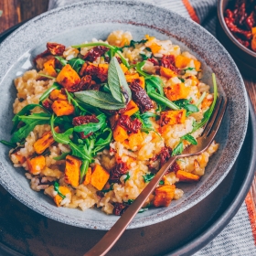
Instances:
[[[219,0],[220,42],[236,61],[240,71],[256,77],[256,2]]]

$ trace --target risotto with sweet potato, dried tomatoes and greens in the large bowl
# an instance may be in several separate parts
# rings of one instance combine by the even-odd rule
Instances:
[[[197,144],[216,102],[195,56],[148,35],[48,43],[34,62],[15,80],[12,138],[2,143],[58,207],[122,215],[171,155]],[[218,146],[178,159],[141,211],[182,197],[176,183],[197,182]]]

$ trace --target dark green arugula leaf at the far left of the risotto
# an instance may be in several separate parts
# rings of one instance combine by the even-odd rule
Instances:
[[[26,123],[18,129],[11,138],[11,143],[16,144],[21,140],[27,138],[28,134],[32,132],[36,125],[47,124],[50,120],[50,115],[45,112],[33,113],[31,115],[21,115],[18,117],[19,121]]]

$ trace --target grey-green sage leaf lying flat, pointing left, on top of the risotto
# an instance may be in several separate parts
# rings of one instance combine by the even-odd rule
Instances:
[[[102,91],[78,91],[74,94],[80,101],[103,110],[119,110],[125,107],[125,103],[116,101],[112,95]]]

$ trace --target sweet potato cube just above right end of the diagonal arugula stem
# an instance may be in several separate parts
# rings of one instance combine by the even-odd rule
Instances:
[[[190,87],[185,86],[184,83],[177,83],[172,86],[168,86],[164,88],[165,95],[170,101],[177,101],[180,99],[186,99],[189,92]]]

